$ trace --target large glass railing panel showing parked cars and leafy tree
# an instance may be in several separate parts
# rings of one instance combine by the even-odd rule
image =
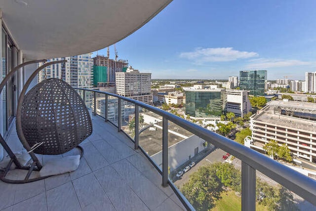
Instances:
[[[169,121],[169,178],[196,210],[241,210],[241,161]]]

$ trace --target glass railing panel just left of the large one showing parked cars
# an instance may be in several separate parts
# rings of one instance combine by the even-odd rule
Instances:
[[[139,146],[152,158],[158,168],[162,169],[162,117],[147,109],[139,107]]]

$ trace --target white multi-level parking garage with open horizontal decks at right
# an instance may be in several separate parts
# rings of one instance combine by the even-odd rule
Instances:
[[[250,118],[253,149],[270,140],[285,143],[293,155],[316,163],[316,104],[271,101]]]

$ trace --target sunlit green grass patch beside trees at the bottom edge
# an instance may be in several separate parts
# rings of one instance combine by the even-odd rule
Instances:
[[[211,211],[240,211],[241,197],[235,194],[235,191],[222,192],[222,199],[217,202],[215,208]],[[266,207],[256,202],[256,211],[266,211]]]

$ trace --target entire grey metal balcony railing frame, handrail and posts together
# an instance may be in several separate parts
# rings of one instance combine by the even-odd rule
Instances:
[[[188,200],[182,195],[182,193],[175,187],[173,182],[168,178],[168,121],[171,121],[185,130],[197,135],[203,140],[209,141],[213,145],[222,150],[229,152],[231,155],[241,160],[241,210],[242,211],[254,211],[256,208],[256,170],[260,171],[266,176],[269,176],[285,188],[301,196],[311,204],[316,206],[316,181],[304,176],[287,166],[284,166],[273,159],[255,151],[244,145],[204,129],[194,123],[191,123],[185,119],[182,119],[176,115],[166,112],[154,106],[144,104],[142,102],[132,100],[130,98],[122,97],[120,95],[102,92],[98,90],[90,90],[83,88],[76,88],[83,91],[83,100],[85,101],[86,92],[93,92],[94,98],[94,110],[93,113],[97,113],[97,93],[98,95],[105,96],[105,121],[108,121],[108,102],[109,96],[118,98],[118,132],[121,132],[121,102],[126,101],[135,106],[135,137],[132,140],[135,144],[135,149],[140,148],[145,156],[156,167],[158,172],[162,176],[162,185],[167,186],[168,183],[175,191],[183,205],[188,210],[194,210]],[[151,157],[139,146],[139,107],[145,108],[162,116],[162,170],[153,162]],[[130,137],[129,137],[130,138]]]

